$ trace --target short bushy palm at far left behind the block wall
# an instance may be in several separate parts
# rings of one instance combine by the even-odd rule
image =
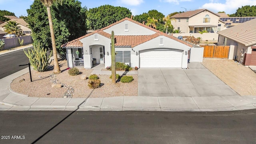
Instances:
[[[8,34],[16,34],[16,36],[22,35],[22,30],[15,21],[7,22],[7,24],[4,26],[4,31]]]

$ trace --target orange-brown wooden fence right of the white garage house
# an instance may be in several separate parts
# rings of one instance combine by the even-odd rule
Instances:
[[[230,46],[204,46],[204,58],[228,58]]]

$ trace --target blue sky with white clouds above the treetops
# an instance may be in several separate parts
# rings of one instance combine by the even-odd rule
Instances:
[[[0,0],[0,10],[14,12],[16,16],[27,16],[26,10],[34,0]],[[158,10],[165,16],[172,12],[206,8],[213,12],[225,11],[233,14],[236,9],[245,5],[256,5],[256,0],[79,0],[82,7],[95,8],[104,4],[126,7],[133,15]],[[182,8],[183,7],[183,8]]]

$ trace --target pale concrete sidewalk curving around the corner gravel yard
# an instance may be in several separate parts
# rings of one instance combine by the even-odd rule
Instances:
[[[0,110],[232,111],[256,108],[256,96],[36,98],[12,92],[12,80],[27,72],[25,68],[0,80]]]

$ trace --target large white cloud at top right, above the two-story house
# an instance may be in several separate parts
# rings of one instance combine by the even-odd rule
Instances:
[[[216,0],[210,0],[209,3],[202,5],[200,8],[206,8],[214,12],[225,11],[226,14],[233,14],[236,10],[242,6],[256,4],[256,0],[226,0],[225,3],[216,2]]]

